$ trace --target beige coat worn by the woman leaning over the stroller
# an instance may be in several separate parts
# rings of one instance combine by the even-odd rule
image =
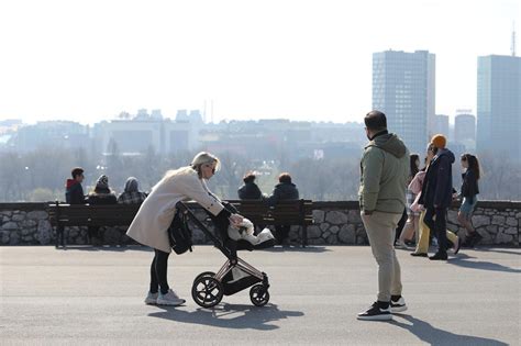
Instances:
[[[170,253],[167,230],[176,214],[176,203],[195,200],[213,215],[224,208],[213,196],[203,179],[191,167],[177,169],[169,178],[163,178],[152,188],[126,231],[134,241]]]

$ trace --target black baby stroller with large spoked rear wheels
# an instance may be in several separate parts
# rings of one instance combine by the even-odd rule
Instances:
[[[239,258],[236,250],[273,247],[275,242],[267,241],[257,246],[253,246],[245,241],[235,242],[228,237],[226,232],[223,232],[222,223],[215,225],[217,228],[220,228],[221,241],[193,215],[184,202],[178,202],[176,208],[195,223],[228,258],[217,274],[204,271],[196,277],[191,288],[193,301],[202,308],[212,308],[221,302],[223,295],[232,295],[251,287],[250,299],[252,303],[256,306],[264,306],[269,301],[268,276]]]

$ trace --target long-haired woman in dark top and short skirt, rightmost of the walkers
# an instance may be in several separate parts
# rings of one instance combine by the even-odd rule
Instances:
[[[481,235],[473,227],[472,216],[476,209],[477,196],[479,193],[478,180],[480,176],[479,160],[472,154],[462,155],[462,167],[465,170],[462,174],[462,189],[459,196],[463,197],[459,212],[457,213],[457,221],[465,227],[466,236],[462,246],[474,247]]]

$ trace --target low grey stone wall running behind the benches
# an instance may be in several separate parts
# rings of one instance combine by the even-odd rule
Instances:
[[[448,211],[448,228],[463,232],[457,224],[457,207],[455,204]],[[200,220],[206,219],[200,208],[193,210]],[[368,244],[355,201],[314,202],[313,219],[314,224],[308,226],[310,245]],[[521,202],[479,201],[473,224],[484,236],[483,245],[519,246]],[[125,228],[101,227],[103,243],[131,244],[132,241],[124,235]],[[300,234],[301,227],[292,226],[290,241],[299,243]],[[87,227],[67,227],[66,236],[67,244],[86,244]],[[54,244],[54,237],[44,203],[0,203],[0,245],[49,245]],[[209,244],[200,230],[193,230],[193,242]]]

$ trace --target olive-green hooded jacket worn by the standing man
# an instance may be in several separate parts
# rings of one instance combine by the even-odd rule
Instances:
[[[361,210],[403,213],[409,177],[409,150],[397,135],[377,135],[361,161]]]

